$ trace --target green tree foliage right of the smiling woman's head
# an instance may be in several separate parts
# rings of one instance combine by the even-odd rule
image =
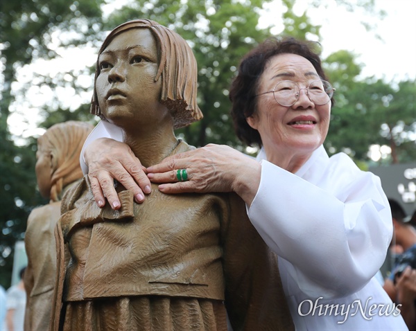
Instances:
[[[329,55],[324,65],[336,87],[325,141],[329,153],[343,151],[369,161],[370,145],[388,145],[390,163],[415,160],[416,82],[396,86],[374,78],[358,80],[362,66],[346,51]]]

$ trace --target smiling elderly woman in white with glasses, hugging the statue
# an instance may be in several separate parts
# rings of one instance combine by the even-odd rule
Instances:
[[[148,179],[162,193],[234,191],[245,201],[250,221],[279,256],[297,330],[407,330],[373,278],[392,238],[380,180],[346,154],[329,157],[322,145],[334,89],[313,45],[270,39],[243,57],[238,72],[232,118],[241,140],[261,146],[257,160],[207,145],[148,167]],[[114,138],[100,127],[96,136]],[[123,143],[97,139],[85,156],[97,204],[104,193],[119,208],[112,177],[146,201],[148,179]],[[186,180],[177,176],[183,169]]]

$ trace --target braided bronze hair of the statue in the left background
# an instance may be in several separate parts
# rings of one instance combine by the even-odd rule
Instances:
[[[62,190],[83,177],[80,152],[93,125],[75,120],[55,124],[37,138],[38,150],[53,154],[56,160],[51,176],[51,202],[62,199]]]

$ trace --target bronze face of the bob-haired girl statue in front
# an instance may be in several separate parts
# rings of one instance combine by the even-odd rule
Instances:
[[[98,104],[110,122],[147,127],[169,115],[159,102],[162,80],[155,82],[159,59],[150,30],[132,28],[116,35],[99,55],[98,66]]]

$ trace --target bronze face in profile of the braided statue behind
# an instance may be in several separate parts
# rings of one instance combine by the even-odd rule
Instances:
[[[42,197],[49,198],[51,196],[51,180],[53,174],[53,155],[50,151],[42,149],[38,145],[36,152],[36,179]]]

